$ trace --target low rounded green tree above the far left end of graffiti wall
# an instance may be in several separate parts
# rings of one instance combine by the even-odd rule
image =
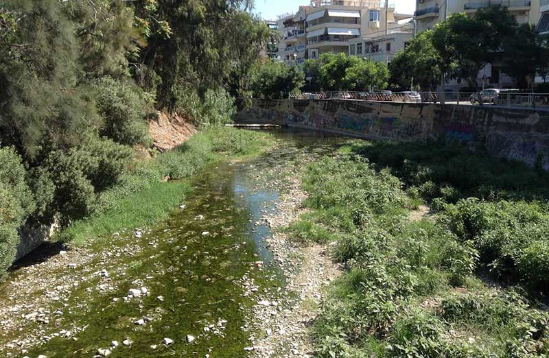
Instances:
[[[266,60],[255,67],[250,88],[254,97],[287,98],[290,93],[299,91],[304,83],[305,74],[295,67]]]

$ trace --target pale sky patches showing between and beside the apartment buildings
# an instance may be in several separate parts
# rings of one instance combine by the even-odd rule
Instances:
[[[280,14],[297,12],[300,5],[309,5],[309,0],[255,0],[255,12],[264,19],[276,20]],[[414,0],[389,0],[389,4],[395,4],[397,12],[412,14],[415,10]]]

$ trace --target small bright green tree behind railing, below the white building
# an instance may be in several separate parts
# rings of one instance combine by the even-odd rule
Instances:
[[[344,78],[344,88],[351,91],[384,89],[388,84],[389,71],[383,62],[360,60],[347,67]]]

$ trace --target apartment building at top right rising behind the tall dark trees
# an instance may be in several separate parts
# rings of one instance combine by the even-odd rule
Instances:
[[[414,19],[417,31],[431,29],[436,23],[444,21],[451,14],[465,12],[473,14],[476,10],[492,5],[504,6],[517,19],[517,23],[537,25],[540,13],[540,1],[548,0],[416,0]]]

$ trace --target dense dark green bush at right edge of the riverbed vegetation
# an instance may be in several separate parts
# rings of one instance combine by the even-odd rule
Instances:
[[[471,240],[493,273],[547,291],[549,215],[544,206],[460,200],[446,206],[439,220],[463,242]]]

